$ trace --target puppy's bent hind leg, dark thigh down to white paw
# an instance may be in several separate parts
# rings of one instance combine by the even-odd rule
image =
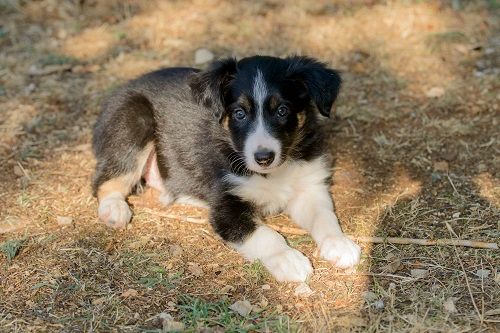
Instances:
[[[141,181],[154,149],[154,120],[150,102],[142,95],[123,93],[112,98],[94,128],[97,159],[93,191],[99,219],[123,228],[132,212],[126,202]]]

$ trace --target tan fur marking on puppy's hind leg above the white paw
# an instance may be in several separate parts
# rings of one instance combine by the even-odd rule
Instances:
[[[149,142],[144,147],[144,149],[137,156],[136,169],[133,172],[112,178],[99,186],[99,189],[97,190],[97,199],[101,201],[113,192],[120,193],[124,198],[126,198],[132,190],[132,187],[134,187],[134,185],[141,180],[144,166],[146,165],[149,154],[153,148],[153,142]]]

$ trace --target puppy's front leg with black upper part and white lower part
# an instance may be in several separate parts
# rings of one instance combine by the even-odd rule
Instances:
[[[309,259],[289,247],[283,236],[260,222],[252,204],[225,194],[211,207],[215,231],[250,261],[259,259],[278,281],[305,281]]]

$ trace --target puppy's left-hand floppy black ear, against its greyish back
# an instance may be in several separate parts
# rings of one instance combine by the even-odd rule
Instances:
[[[233,58],[214,61],[206,70],[193,74],[189,81],[195,101],[212,109],[219,121],[224,115],[224,97],[236,68]]]

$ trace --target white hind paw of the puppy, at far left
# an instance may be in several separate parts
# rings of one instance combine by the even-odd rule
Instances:
[[[115,229],[125,228],[132,218],[130,207],[121,198],[105,198],[99,203],[97,212],[102,222]]]

